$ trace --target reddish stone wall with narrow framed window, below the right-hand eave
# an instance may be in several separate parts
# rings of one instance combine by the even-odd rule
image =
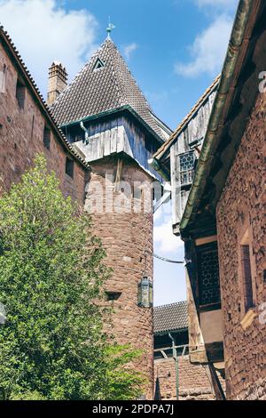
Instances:
[[[217,206],[224,323],[226,391],[229,399],[266,399],[265,132],[266,95],[260,94]],[[245,319],[239,245],[250,236],[254,318]],[[264,306],[264,313],[265,313]],[[263,324],[264,323],[264,324]]]

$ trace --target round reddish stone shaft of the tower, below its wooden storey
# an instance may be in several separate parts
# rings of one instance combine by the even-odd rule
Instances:
[[[112,324],[106,325],[108,331],[115,336],[120,344],[130,343],[133,348],[143,350],[142,357],[135,367],[148,379],[144,394],[153,398],[153,309],[142,309],[137,306],[137,285],[145,273],[153,277],[153,213],[151,203],[145,213],[143,198],[134,198],[132,204],[141,205],[139,213],[134,213],[132,205],[128,205],[128,213],[118,213],[115,205],[123,199],[126,190],[117,190],[112,199],[106,197],[115,189],[114,179],[117,172],[117,157],[106,158],[105,161],[92,164],[90,191],[86,200],[86,208],[92,215],[95,232],[102,239],[106,248],[106,264],[113,269],[110,280],[106,283],[107,292],[121,293],[113,304]],[[113,176],[113,181],[106,181],[106,175]],[[151,178],[135,163],[126,159],[121,169],[121,181],[143,182],[146,186]],[[95,189],[94,186],[95,186]],[[100,211],[101,193],[104,190],[103,212]],[[150,189],[147,187],[147,193]],[[145,191],[143,192],[145,193]],[[143,197],[143,194],[142,194]],[[98,208],[94,211],[94,204]],[[147,204],[148,205],[148,204]],[[90,207],[88,207],[90,206]],[[95,212],[95,213],[94,213]],[[121,211],[123,212],[123,211]]]

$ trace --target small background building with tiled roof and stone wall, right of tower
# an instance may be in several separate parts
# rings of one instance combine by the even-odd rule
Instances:
[[[224,376],[215,382],[207,365],[189,358],[187,302],[154,308],[154,385],[157,400],[216,400],[223,398]],[[173,353],[173,340],[176,353]]]

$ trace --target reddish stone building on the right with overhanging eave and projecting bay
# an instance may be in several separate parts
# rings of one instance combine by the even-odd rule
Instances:
[[[224,367],[226,396],[266,398],[266,5],[240,1],[177,233],[192,363]]]

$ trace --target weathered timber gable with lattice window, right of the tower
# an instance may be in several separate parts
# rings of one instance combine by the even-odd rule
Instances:
[[[164,180],[171,183],[172,223],[176,235],[179,235],[179,224],[192,187],[219,81],[220,76],[217,76],[150,161]]]

